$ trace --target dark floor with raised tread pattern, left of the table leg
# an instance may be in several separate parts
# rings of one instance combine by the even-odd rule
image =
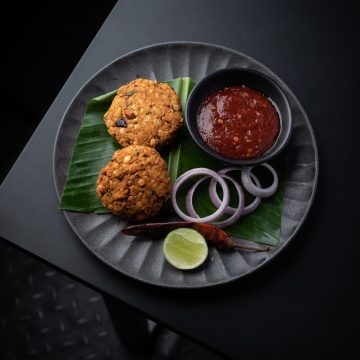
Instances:
[[[0,252],[1,359],[130,359],[100,294],[3,243]]]

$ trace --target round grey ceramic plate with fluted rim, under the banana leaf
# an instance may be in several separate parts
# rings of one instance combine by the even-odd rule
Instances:
[[[190,76],[199,81],[224,67],[261,71],[275,79],[286,92],[293,115],[293,133],[288,144],[285,202],[280,245],[266,253],[219,252],[210,248],[204,266],[183,272],[165,262],[162,241],[121,235],[125,222],[113,215],[65,211],[65,217],[82,242],[114,269],[134,279],[174,288],[201,288],[223,284],[248,275],[274,258],[294,237],[310,209],[318,176],[318,155],[313,130],[299,101],[268,68],[254,59],[220,46],[202,43],[166,43],[149,46],[120,57],[95,74],[68,107],[54,150],[54,177],[60,198],[72,149],[87,102],[136,78],[158,80]]]

